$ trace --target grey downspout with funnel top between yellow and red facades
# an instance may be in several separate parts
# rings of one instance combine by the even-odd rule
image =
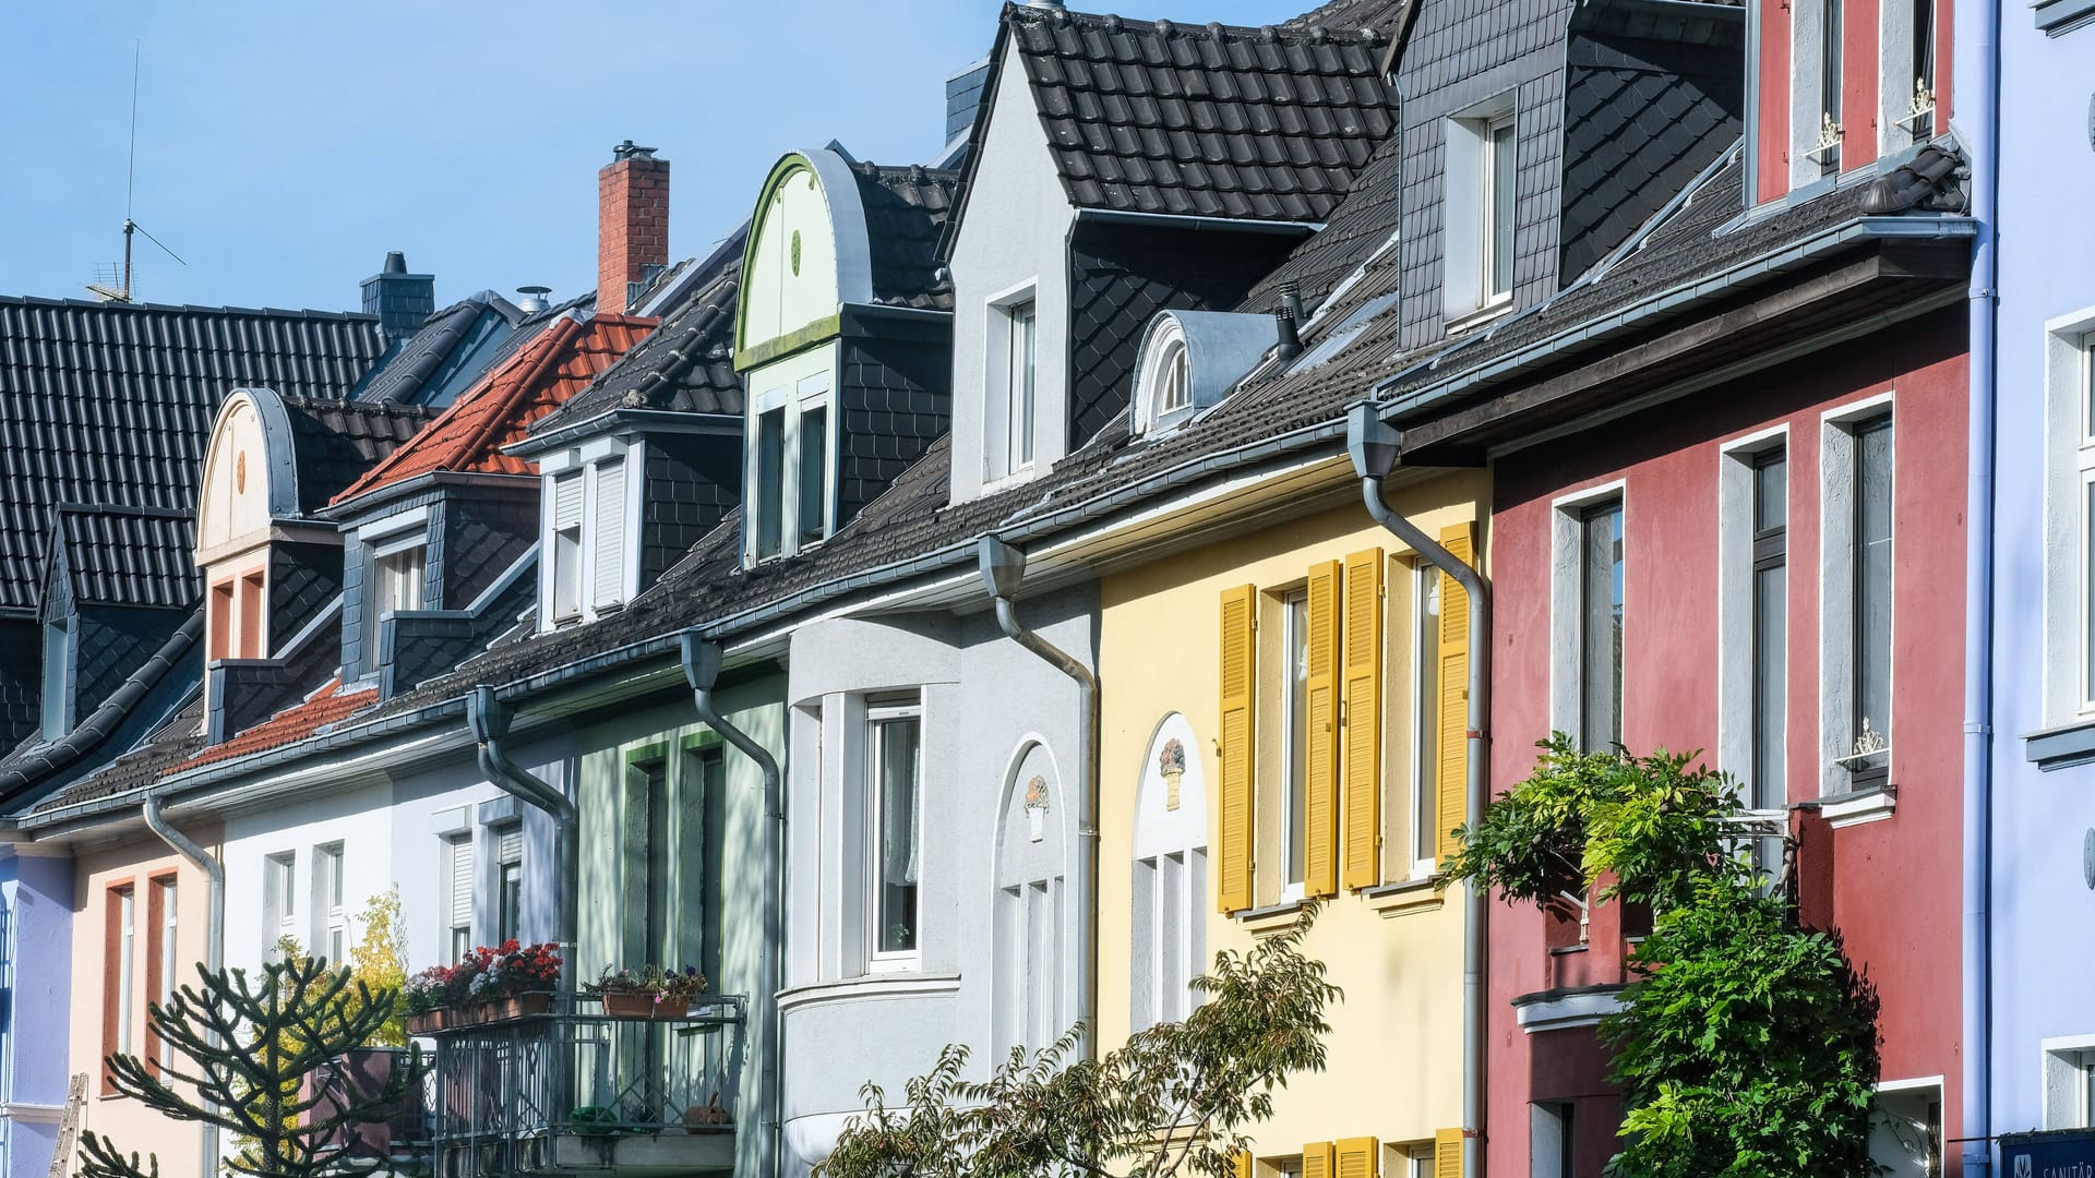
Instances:
[[[1485,752],[1490,750],[1490,688],[1492,688],[1492,593],[1475,568],[1425,535],[1404,514],[1383,501],[1383,478],[1397,465],[1399,434],[1376,415],[1374,405],[1355,405],[1345,421],[1345,453],[1360,476],[1360,493],[1374,522],[1387,528],[1412,551],[1446,572],[1469,595],[1469,805],[1471,830],[1483,824]],[[1485,889],[1462,885],[1462,1178],[1483,1176],[1483,962],[1485,962]]]

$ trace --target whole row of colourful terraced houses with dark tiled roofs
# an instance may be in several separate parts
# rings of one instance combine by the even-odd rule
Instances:
[[[1437,887],[1550,732],[1787,836],[1890,1174],[2095,1163],[2095,2],[983,31],[939,157],[779,145],[696,256],[622,143],[566,302],[0,298],[6,1178],[216,1172],[105,1054],[388,889],[570,979],[371,1165],[807,1174],[1324,901],[1255,1176],[1596,1176],[1645,918]]]

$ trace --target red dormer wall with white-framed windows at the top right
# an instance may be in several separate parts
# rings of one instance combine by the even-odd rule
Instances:
[[[1747,0],[1758,201],[1875,172],[1948,132],[1950,8],[1940,0]],[[1938,101],[1938,94],[1942,101]]]

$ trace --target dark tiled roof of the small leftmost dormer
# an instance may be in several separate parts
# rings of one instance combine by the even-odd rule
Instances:
[[[195,511],[61,503],[57,543],[80,606],[186,610],[203,593]]]

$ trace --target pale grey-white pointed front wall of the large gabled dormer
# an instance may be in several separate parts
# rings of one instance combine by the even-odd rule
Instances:
[[[1041,138],[1016,44],[987,96],[953,235],[953,501],[1024,482],[1068,438],[1068,239],[1077,210]]]

